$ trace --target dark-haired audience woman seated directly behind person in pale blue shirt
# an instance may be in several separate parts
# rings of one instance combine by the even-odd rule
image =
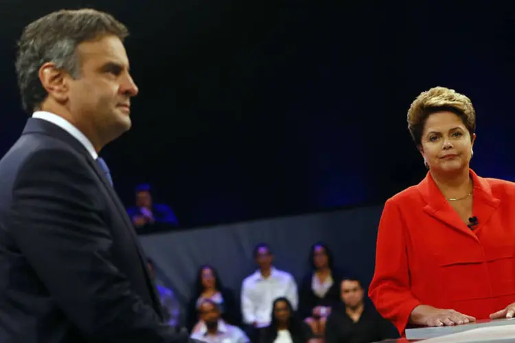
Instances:
[[[211,265],[198,269],[194,294],[187,305],[186,329],[192,332],[199,324],[198,307],[205,299],[212,300],[220,309],[222,319],[229,324],[239,326],[241,314],[233,292],[223,287],[218,272]]]

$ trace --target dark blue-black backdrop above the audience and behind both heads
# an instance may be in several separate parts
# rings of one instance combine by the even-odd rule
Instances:
[[[476,107],[474,170],[514,180],[514,1],[4,0],[0,155],[21,30],[81,7],[132,32],[133,129],[102,151],[128,205],[139,182],[184,227],[380,204],[426,173],[406,113],[437,85]]]

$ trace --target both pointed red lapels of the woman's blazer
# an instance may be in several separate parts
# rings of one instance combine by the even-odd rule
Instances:
[[[472,196],[474,197],[472,211],[473,215],[479,220],[477,227],[477,229],[479,229],[483,224],[490,220],[490,217],[492,217],[492,214],[501,201],[492,196],[492,190],[490,189],[488,182],[477,176],[472,169],[470,170],[470,176],[472,177],[472,182],[474,184],[472,193]],[[428,172],[426,178],[420,182],[417,188],[426,201],[426,206],[424,206],[424,211],[426,211],[426,213],[435,217],[437,220],[444,222],[455,230],[459,230],[466,235],[475,237],[474,233],[472,233],[463,220],[461,220],[453,207],[448,204],[446,198],[433,180],[431,172]]]

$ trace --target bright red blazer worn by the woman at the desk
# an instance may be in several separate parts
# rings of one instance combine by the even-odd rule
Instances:
[[[369,296],[401,334],[420,304],[481,320],[515,302],[515,183],[470,175],[473,231],[431,173],[385,204]]]

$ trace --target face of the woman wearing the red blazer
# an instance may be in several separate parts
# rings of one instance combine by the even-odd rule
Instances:
[[[420,152],[431,171],[453,173],[468,167],[476,135],[470,137],[461,118],[444,111],[429,115],[422,132]]]

